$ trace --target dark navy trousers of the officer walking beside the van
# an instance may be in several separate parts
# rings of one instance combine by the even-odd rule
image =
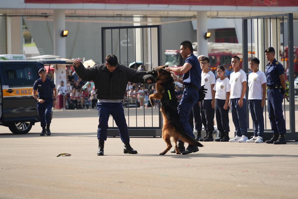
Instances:
[[[45,128],[46,124],[51,124],[52,107],[53,99],[45,100],[44,103],[37,102],[37,111],[42,128]]]

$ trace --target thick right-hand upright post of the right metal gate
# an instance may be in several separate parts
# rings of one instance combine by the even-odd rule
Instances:
[[[289,67],[289,112],[290,131],[295,131],[295,102],[294,102],[294,35],[293,35],[293,13],[288,13],[288,66]]]

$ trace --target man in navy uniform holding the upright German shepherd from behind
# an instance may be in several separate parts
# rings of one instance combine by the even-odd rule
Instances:
[[[199,89],[201,88],[201,67],[198,58],[193,54],[193,46],[190,41],[183,41],[180,44],[180,54],[185,59],[183,66],[178,68],[165,68],[168,72],[183,73],[182,79],[176,79],[184,85],[184,91],[181,101],[178,105],[178,114],[181,126],[185,133],[195,138],[193,135],[193,129],[191,129],[188,123],[190,111],[195,103],[198,103]],[[198,146],[189,144],[184,151],[184,143],[178,141],[179,151],[183,151],[182,155],[186,155],[192,152],[197,152]]]

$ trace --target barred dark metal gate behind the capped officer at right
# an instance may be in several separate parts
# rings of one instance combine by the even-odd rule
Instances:
[[[254,44],[253,49],[252,36],[254,29]],[[287,36],[285,36],[287,30]],[[248,33],[251,34],[251,48],[248,49]],[[288,82],[289,82],[289,103],[283,102],[283,114],[286,121],[287,140],[298,140],[298,133],[295,131],[295,96],[294,96],[294,38],[293,38],[293,13],[266,15],[266,16],[252,16],[242,18],[242,38],[243,38],[243,70],[248,73],[248,58],[249,52],[253,57],[260,59],[260,67],[265,72],[265,67],[268,61],[265,60],[264,50],[268,46],[272,46],[276,52],[276,60],[288,67]],[[285,47],[288,48],[288,54],[285,56]],[[287,60],[288,59],[288,60]],[[287,61],[287,62],[286,62]],[[286,69],[286,68],[285,68]],[[248,97],[248,89],[246,90],[246,99]],[[268,124],[268,110],[265,101],[265,131],[264,140],[269,140],[272,137],[271,125]],[[252,136],[254,130],[249,128],[250,114],[248,103],[246,107],[246,118],[248,135]]]

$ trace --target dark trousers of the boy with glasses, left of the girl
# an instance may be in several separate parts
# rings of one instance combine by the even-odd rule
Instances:
[[[203,100],[201,101],[201,118],[202,123],[204,125],[204,129],[208,130],[209,132],[214,131],[214,113],[215,110],[211,107],[211,101],[210,100]]]

